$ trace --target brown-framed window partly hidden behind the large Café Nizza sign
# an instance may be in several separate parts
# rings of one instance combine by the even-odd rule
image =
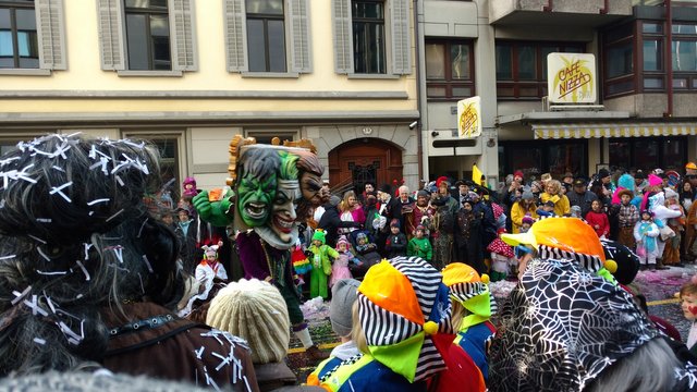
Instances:
[[[500,100],[539,99],[547,95],[547,54],[584,53],[578,42],[497,41],[497,94]]]

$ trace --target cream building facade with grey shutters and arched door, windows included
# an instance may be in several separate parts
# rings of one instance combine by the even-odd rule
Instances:
[[[409,0],[3,0],[0,148],[148,138],[208,188],[234,134],[309,138],[335,186],[415,186],[414,37]]]

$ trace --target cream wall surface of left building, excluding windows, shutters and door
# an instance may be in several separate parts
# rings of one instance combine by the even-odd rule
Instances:
[[[135,76],[101,70],[97,1],[65,0],[68,70],[48,76],[0,74],[0,140],[76,131],[111,138],[172,137],[180,176],[193,175],[199,187],[210,188],[224,184],[235,134],[310,137],[326,162],[332,148],[363,137],[342,130],[388,127],[391,134],[371,137],[399,142],[408,184],[415,187],[418,154],[407,125],[418,118],[416,74],[337,74],[331,3],[309,0],[310,73],[260,77],[228,72],[223,0],[199,0],[193,2],[198,70]],[[414,63],[413,22],[411,32]]]

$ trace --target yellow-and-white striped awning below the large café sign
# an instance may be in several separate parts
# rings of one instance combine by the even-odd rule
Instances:
[[[697,135],[697,123],[670,124],[537,124],[536,139]]]

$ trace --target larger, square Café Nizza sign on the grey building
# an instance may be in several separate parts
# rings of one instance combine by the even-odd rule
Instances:
[[[586,53],[547,54],[550,103],[595,103],[596,57]]]

